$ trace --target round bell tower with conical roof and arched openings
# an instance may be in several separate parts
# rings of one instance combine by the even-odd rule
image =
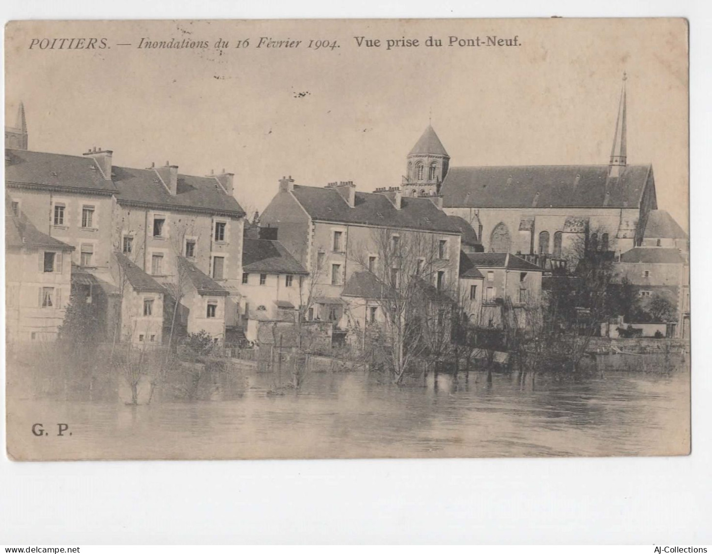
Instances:
[[[401,184],[403,195],[419,197],[438,194],[449,164],[450,156],[432,125],[428,125],[406,157],[406,174]]]

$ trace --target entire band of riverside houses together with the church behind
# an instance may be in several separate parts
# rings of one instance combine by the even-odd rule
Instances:
[[[627,165],[624,118],[623,90],[609,164],[587,167],[450,167],[428,126],[399,187],[283,177],[246,221],[233,174],[33,152],[21,107],[5,134],[8,338],[53,340],[71,300],[108,340],[205,331],[233,344],[297,320],[340,342],[382,322],[383,299],[410,281],[498,326],[498,300],[538,301],[576,244],[609,252],[642,302],[666,296],[671,333],[686,336],[688,238],[657,209],[652,168]]]

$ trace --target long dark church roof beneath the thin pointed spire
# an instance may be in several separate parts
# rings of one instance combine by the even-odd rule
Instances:
[[[607,165],[451,167],[440,194],[447,207],[638,207],[651,165],[626,166],[620,177],[611,179],[608,169]]]

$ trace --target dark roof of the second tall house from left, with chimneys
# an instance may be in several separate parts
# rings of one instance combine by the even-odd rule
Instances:
[[[234,197],[226,194],[214,177],[178,175],[177,194],[170,194],[155,169],[114,167],[112,179],[118,189],[119,204],[151,204],[163,209],[199,209],[235,216],[245,211]]]

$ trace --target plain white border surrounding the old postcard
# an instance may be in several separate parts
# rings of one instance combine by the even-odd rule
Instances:
[[[6,0],[0,10],[5,20],[686,16],[693,237],[691,456],[63,463],[0,456],[0,544],[712,543],[708,1]],[[4,440],[4,420],[1,429]]]

